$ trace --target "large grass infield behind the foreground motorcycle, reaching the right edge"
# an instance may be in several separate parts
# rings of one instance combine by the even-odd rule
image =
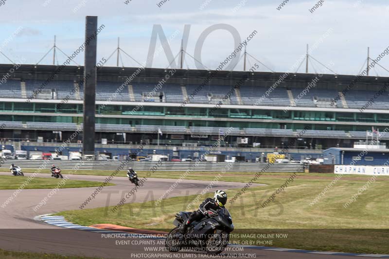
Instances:
[[[254,173],[224,175],[222,181],[246,182]],[[178,178],[180,173],[154,173],[152,177]],[[271,239],[272,244],[287,248],[319,251],[389,254],[389,178],[379,177],[368,190],[359,195],[348,208],[343,204],[358,191],[371,176],[343,176],[322,197],[310,206],[312,200],[334,179],[335,174],[299,173],[294,182],[266,207],[263,203],[289,177],[290,173],[265,173],[232,205],[227,203],[235,224],[235,233],[282,233],[285,239]],[[212,173],[191,173],[188,179],[212,180]],[[147,188],[147,182],[144,187]],[[238,190],[229,190],[233,197]],[[203,195],[200,201],[212,194]],[[165,199],[155,205],[152,201],[125,204],[115,213],[112,207],[60,212],[75,224],[118,224],[144,229],[171,229],[174,215],[195,199],[196,195]],[[154,197],[158,199],[159,197]],[[150,197],[149,199],[150,200]],[[198,202],[199,203],[199,202]],[[195,210],[194,203],[189,210]],[[248,239],[250,240],[250,239]],[[257,241],[257,239],[251,239]],[[261,239],[264,240],[264,239]]]

